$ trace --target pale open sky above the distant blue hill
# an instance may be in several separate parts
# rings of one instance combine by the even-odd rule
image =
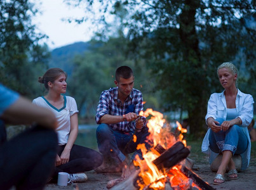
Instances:
[[[50,49],[65,46],[79,41],[90,41],[93,36],[93,31],[88,23],[77,25],[76,23],[68,23],[62,21],[62,18],[76,17],[79,18],[84,15],[83,9],[69,8],[63,0],[32,0],[33,3],[41,11],[41,15],[37,14],[32,19],[37,28],[48,35],[46,44]]]

